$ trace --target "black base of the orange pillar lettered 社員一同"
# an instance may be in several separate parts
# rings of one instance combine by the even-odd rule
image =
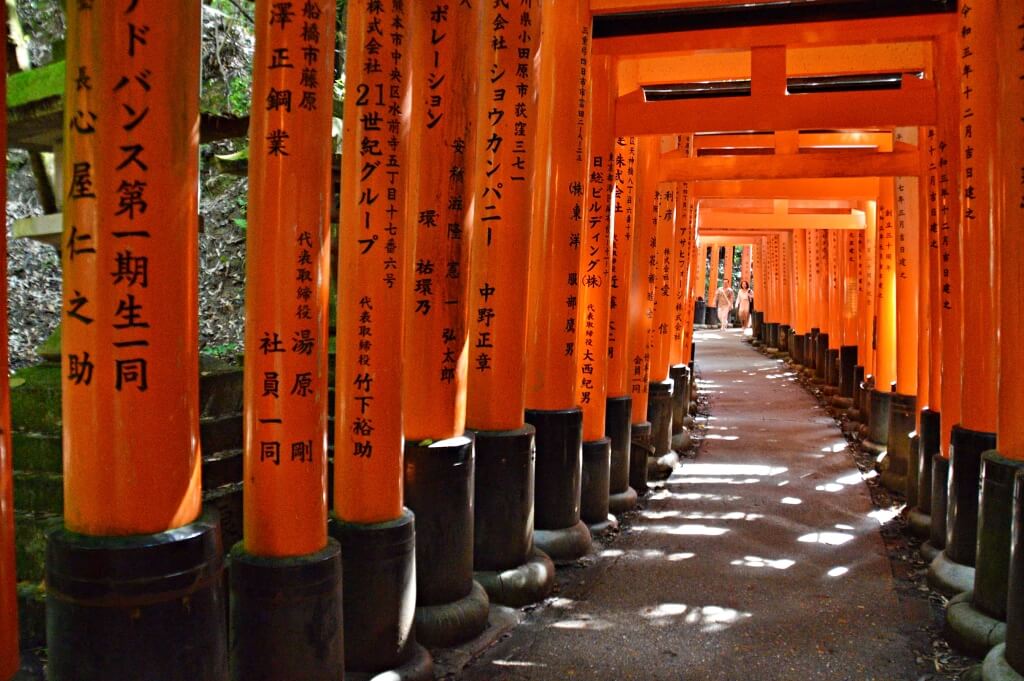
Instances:
[[[309,681],[342,677],[338,542],[287,558],[254,556],[239,542],[231,549],[230,594],[231,679],[279,681],[296,670]]]

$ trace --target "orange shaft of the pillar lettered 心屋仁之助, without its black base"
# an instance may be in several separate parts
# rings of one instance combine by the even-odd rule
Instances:
[[[200,5],[69,4],[66,522],[85,534],[162,531],[200,508]],[[129,479],[132,494],[109,503]]]

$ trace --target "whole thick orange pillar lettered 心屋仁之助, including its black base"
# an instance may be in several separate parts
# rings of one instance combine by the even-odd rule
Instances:
[[[205,651],[195,677],[227,672],[220,530],[200,507],[200,4],[68,7],[52,679],[142,679],[183,650]]]

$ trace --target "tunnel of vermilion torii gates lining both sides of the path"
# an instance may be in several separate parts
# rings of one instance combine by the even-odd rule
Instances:
[[[333,452],[333,7],[257,0],[226,594],[199,497],[200,2],[69,4],[51,678],[432,678],[421,643],[471,638],[488,599],[544,598],[552,559],[667,472],[722,247],[732,285],[742,249],[756,342],[862,427],[931,580],[965,593],[953,642],[988,653],[986,678],[1024,673],[1024,326],[1000,299],[1021,273],[1021,0],[829,20],[351,0]]]

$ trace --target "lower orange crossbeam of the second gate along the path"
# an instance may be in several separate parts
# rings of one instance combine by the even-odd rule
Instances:
[[[663,182],[905,177],[921,174],[921,155],[913,151],[708,156],[696,159],[664,159],[658,168],[658,180]],[[842,195],[831,194],[828,198],[836,196]]]

